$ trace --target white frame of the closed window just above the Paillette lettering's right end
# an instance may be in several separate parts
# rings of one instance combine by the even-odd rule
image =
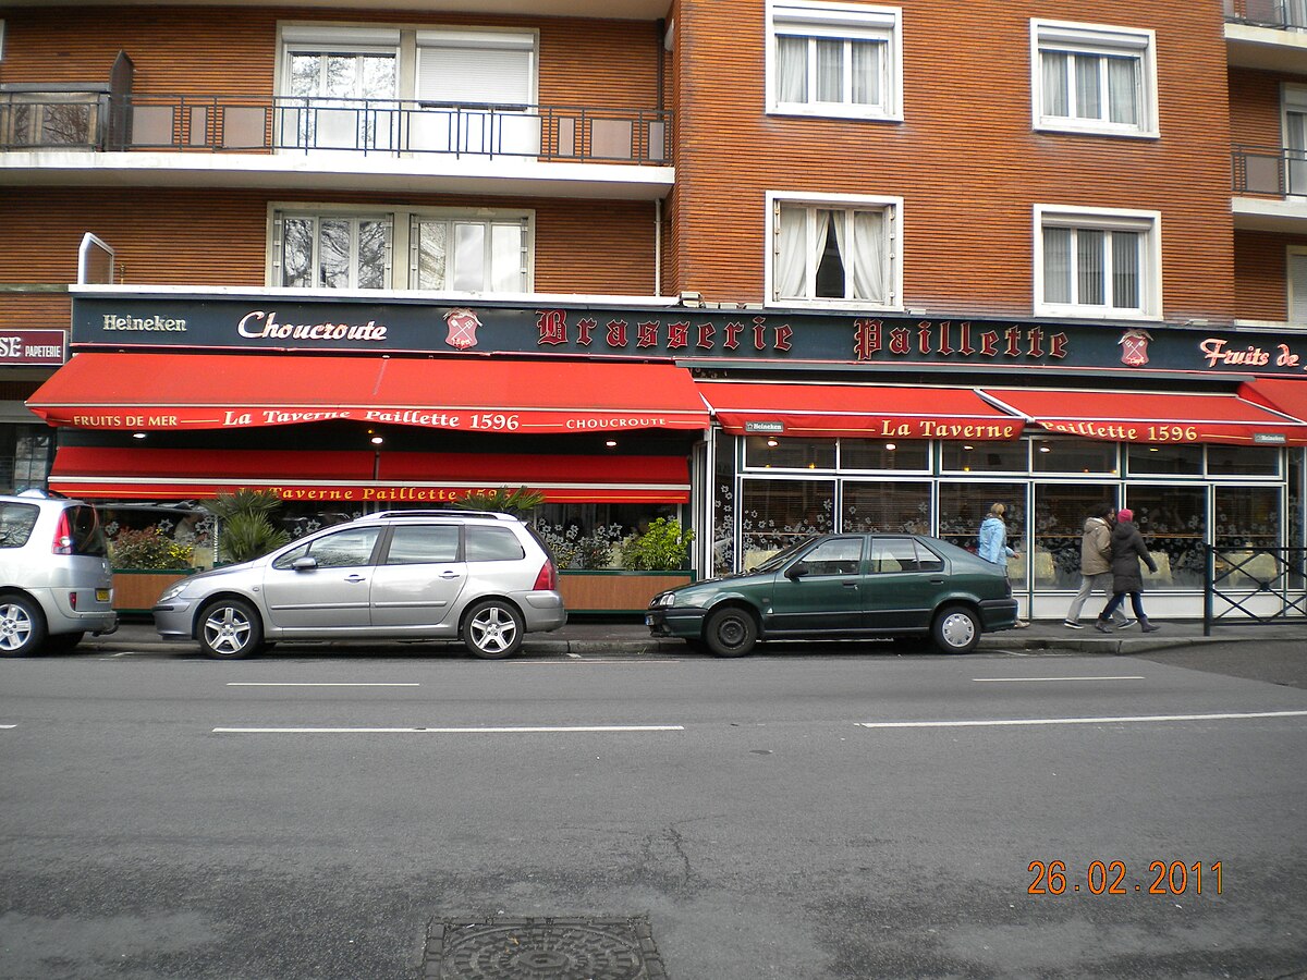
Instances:
[[[1162,319],[1162,212],[1036,204],[1034,218],[1035,316],[1104,320]],[[1140,233],[1142,239],[1140,242],[1140,308],[1046,303],[1044,229],[1048,227]]]

